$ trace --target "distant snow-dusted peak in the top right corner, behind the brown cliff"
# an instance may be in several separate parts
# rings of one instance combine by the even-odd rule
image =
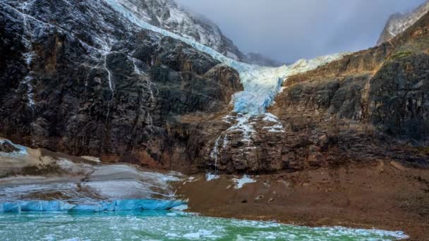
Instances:
[[[429,1],[426,1],[409,13],[394,13],[389,17],[389,20],[387,20],[385,28],[377,41],[377,45],[387,42],[401,32],[404,32],[407,28],[416,23],[418,19],[423,17],[425,13],[428,13],[428,11]]]

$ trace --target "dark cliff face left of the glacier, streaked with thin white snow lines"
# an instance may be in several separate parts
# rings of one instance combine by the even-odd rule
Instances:
[[[184,168],[203,130],[181,115],[242,89],[235,70],[103,1],[2,2],[0,33],[0,133],[31,147]]]

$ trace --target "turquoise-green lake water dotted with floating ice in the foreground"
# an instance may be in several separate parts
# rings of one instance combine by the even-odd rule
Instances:
[[[171,211],[0,214],[0,240],[397,240],[401,232],[307,228]]]

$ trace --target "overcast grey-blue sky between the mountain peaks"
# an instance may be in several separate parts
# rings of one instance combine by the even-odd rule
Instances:
[[[424,0],[176,0],[244,52],[292,62],[373,47],[392,13]]]

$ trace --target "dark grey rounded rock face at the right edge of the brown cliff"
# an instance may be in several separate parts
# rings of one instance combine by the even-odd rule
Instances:
[[[389,61],[371,80],[370,118],[402,139],[429,137],[429,56],[418,54]]]

